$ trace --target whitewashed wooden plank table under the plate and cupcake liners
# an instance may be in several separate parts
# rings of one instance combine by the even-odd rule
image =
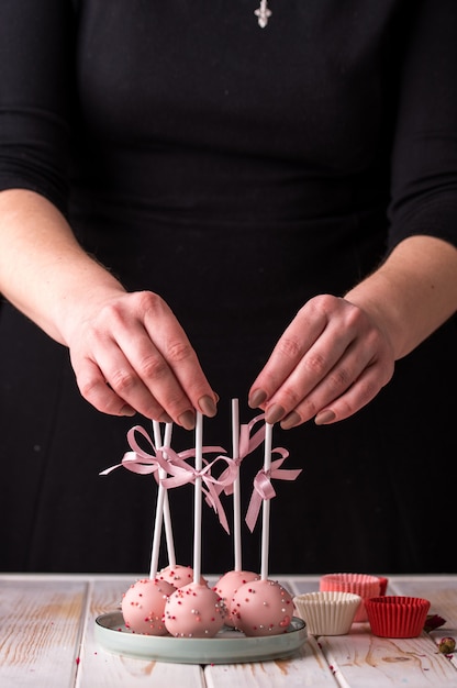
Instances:
[[[316,576],[280,579],[293,593],[319,589]],[[96,617],[115,609],[134,580],[0,575],[0,687],[457,688],[457,653],[445,656],[436,645],[445,635],[457,639],[457,575],[389,577],[389,593],[425,597],[431,613],[446,619],[430,634],[380,639],[361,623],[348,635],[310,636],[289,659],[214,666],[133,659],[96,642]]]

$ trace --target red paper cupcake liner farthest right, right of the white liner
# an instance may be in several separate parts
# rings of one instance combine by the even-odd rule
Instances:
[[[380,596],[365,600],[371,631],[381,637],[416,637],[421,635],[428,600],[420,597]]]

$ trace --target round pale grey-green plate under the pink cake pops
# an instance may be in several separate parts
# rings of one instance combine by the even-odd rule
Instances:
[[[304,621],[293,617],[286,633],[246,637],[224,628],[215,637],[137,635],[124,625],[122,612],[96,619],[96,639],[105,650],[120,655],[176,664],[234,664],[280,659],[292,655],[308,636]]]

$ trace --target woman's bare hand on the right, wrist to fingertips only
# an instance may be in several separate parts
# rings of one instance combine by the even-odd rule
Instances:
[[[348,418],[390,380],[392,344],[365,310],[330,295],[308,301],[278,341],[249,392],[269,423],[288,430]]]

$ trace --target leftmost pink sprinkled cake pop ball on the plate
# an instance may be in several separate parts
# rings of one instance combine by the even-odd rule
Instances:
[[[166,635],[165,602],[175,591],[175,586],[166,580],[137,580],[122,598],[122,615],[126,628],[143,635]]]

